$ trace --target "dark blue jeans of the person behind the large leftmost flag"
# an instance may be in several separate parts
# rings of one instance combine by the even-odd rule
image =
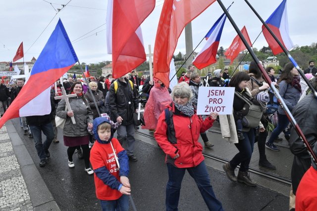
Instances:
[[[47,151],[54,139],[54,130],[52,123],[48,123],[42,126],[29,126],[30,130],[32,131],[35,148],[38,153],[40,160],[45,160],[45,151]],[[42,143],[42,131],[44,135],[46,135],[46,140]]]

